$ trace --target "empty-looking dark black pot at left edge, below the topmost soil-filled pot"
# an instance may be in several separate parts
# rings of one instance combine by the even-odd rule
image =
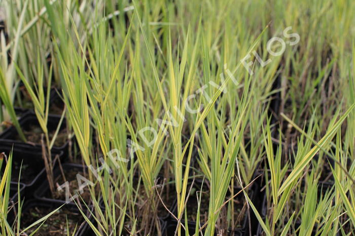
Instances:
[[[26,199],[30,199],[32,198],[34,189],[46,178],[42,148],[26,144],[18,144],[16,147],[13,147],[11,141],[0,141],[0,152],[5,152],[9,156],[11,151],[13,158],[11,180],[18,182],[21,168],[20,182],[26,186],[23,196],[26,196]],[[59,158],[62,159],[63,153],[53,150],[52,155],[59,155]],[[5,165],[3,165],[1,171],[4,171],[4,169]]]

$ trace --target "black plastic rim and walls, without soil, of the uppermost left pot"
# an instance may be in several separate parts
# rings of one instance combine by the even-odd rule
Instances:
[[[48,123],[47,123],[47,128],[49,132],[54,132],[57,129],[57,126],[59,124],[60,121],[60,115],[49,115],[48,116]],[[20,119],[19,119],[19,123],[21,126],[22,130],[29,130],[30,127],[38,127],[38,135],[39,137],[41,137],[42,134],[42,129],[41,126],[37,120],[37,116],[31,112],[28,111],[26,112]],[[60,126],[60,131],[64,130],[66,128],[66,123],[65,123],[65,118],[63,119],[63,122]],[[2,134],[0,134],[0,143],[4,142],[4,141],[10,141],[14,144],[14,147],[17,147],[19,144],[21,145],[27,145],[27,146],[35,146],[35,147],[41,147],[42,145],[40,143],[24,143],[22,141],[20,141],[18,138],[18,132],[16,130],[16,128],[14,126],[6,129]],[[64,153],[64,155],[67,154],[68,151],[68,141],[66,141],[63,145],[61,146],[53,146],[52,150],[55,151],[62,151]]]

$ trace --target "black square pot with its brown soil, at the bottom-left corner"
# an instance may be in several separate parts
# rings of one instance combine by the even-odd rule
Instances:
[[[33,222],[41,219],[43,216],[51,213],[53,210],[62,206],[59,203],[53,201],[29,200],[27,201],[21,211],[21,229],[25,229]],[[8,214],[8,222],[12,224],[15,220],[16,214],[10,210]],[[56,213],[51,215],[42,225],[41,231],[37,231],[35,235],[68,235],[66,232],[66,219],[69,222],[70,235],[74,232],[76,227],[75,236],[91,235],[87,234],[88,224],[84,217],[80,213],[77,207],[64,205]],[[36,229],[40,224],[34,226],[32,231]],[[29,233],[29,231],[26,231]]]

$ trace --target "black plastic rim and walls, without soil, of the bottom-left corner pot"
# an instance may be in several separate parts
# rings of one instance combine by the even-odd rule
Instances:
[[[33,209],[34,207],[38,207],[38,208],[45,208],[48,210],[48,213],[50,213],[51,211],[61,207],[62,204],[60,203],[57,203],[57,202],[53,202],[53,201],[43,201],[43,202],[39,202],[38,200],[35,200],[35,199],[32,199],[32,200],[29,200],[27,201],[21,211],[22,211],[22,216],[21,216],[21,221],[24,220],[23,216],[28,212],[30,211],[31,209]],[[76,233],[75,233],[75,236],[84,236],[84,235],[90,235],[90,234],[86,234],[87,232],[87,228],[86,226],[88,226],[87,222],[85,221],[84,217],[82,216],[82,214],[80,213],[79,209],[76,207],[76,206],[70,206],[70,205],[64,205],[60,208],[60,210],[68,210],[74,214],[77,214],[78,215],[78,218],[81,218],[81,220],[78,223],[77,225],[77,230],[76,230]],[[59,210],[59,211],[60,211]],[[47,214],[48,214],[47,213]],[[32,214],[32,213],[31,213]],[[45,216],[45,215],[43,215]],[[87,215],[89,217],[89,215]],[[14,213],[14,211],[11,211],[9,212],[8,214],[8,222],[10,224],[12,224],[15,220],[15,217],[16,217],[16,214]],[[40,216],[41,218],[42,216]],[[34,222],[34,221],[33,221]],[[46,220],[46,222],[48,223],[48,219]],[[45,222],[45,223],[46,223]],[[66,222],[62,222],[63,224],[63,229],[66,228]],[[37,228],[40,224],[34,226],[34,229]],[[26,225],[28,226],[28,225]],[[73,232],[71,232],[73,233]],[[48,234],[49,235],[49,234]],[[54,234],[52,234],[54,235]]]

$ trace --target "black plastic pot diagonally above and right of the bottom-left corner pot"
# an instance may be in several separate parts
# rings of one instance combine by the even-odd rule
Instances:
[[[88,173],[88,168],[85,167],[85,166],[79,165],[79,164],[68,164],[68,163],[65,163],[65,164],[62,164],[61,166],[62,166],[62,169],[63,169],[64,172],[73,171],[75,173],[75,175],[78,174],[79,172]],[[46,172],[45,169],[43,171]],[[54,180],[57,179],[58,177],[61,177],[61,175],[62,175],[61,174],[61,170],[60,170],[59,166],[56,165],[56,167],[54,168],[54,171],[53,171]],[[67,179],[67,181],[77,181],[77,177],[74,177],[74,179],[73,178],[72,179]],[[59,185],[61,185],[63,183],[64,182],[62,182],[62,183],[58,182]],[[87,188],[87,187],[85,187],[85,188]],[[62,191],[65,192],[65,187],[63,187],[62,189],[63,189]],[[74,192],[70,192],[70,194],[74,195],[75,193]],[[33,195],[34,195],[34,198],[39,200],[39,201],[51,201],[51,202],[58,203],[58,204],[65,204],[65,199],[59,200],[59,199],[53,199],[52,198],[47,178],[44,179],[44,181],[38,187],[38,189],[36,189],[34,191]],[[80,196],[79,196],[79,200],[81,200]],[[88,206],[90,205],[90,203],[86,203],[86,204]],[[74,202],[67,203],[66,205],[76,206],[76,204]],[[85,205],[83,205],[83,207],[85,208]]]

